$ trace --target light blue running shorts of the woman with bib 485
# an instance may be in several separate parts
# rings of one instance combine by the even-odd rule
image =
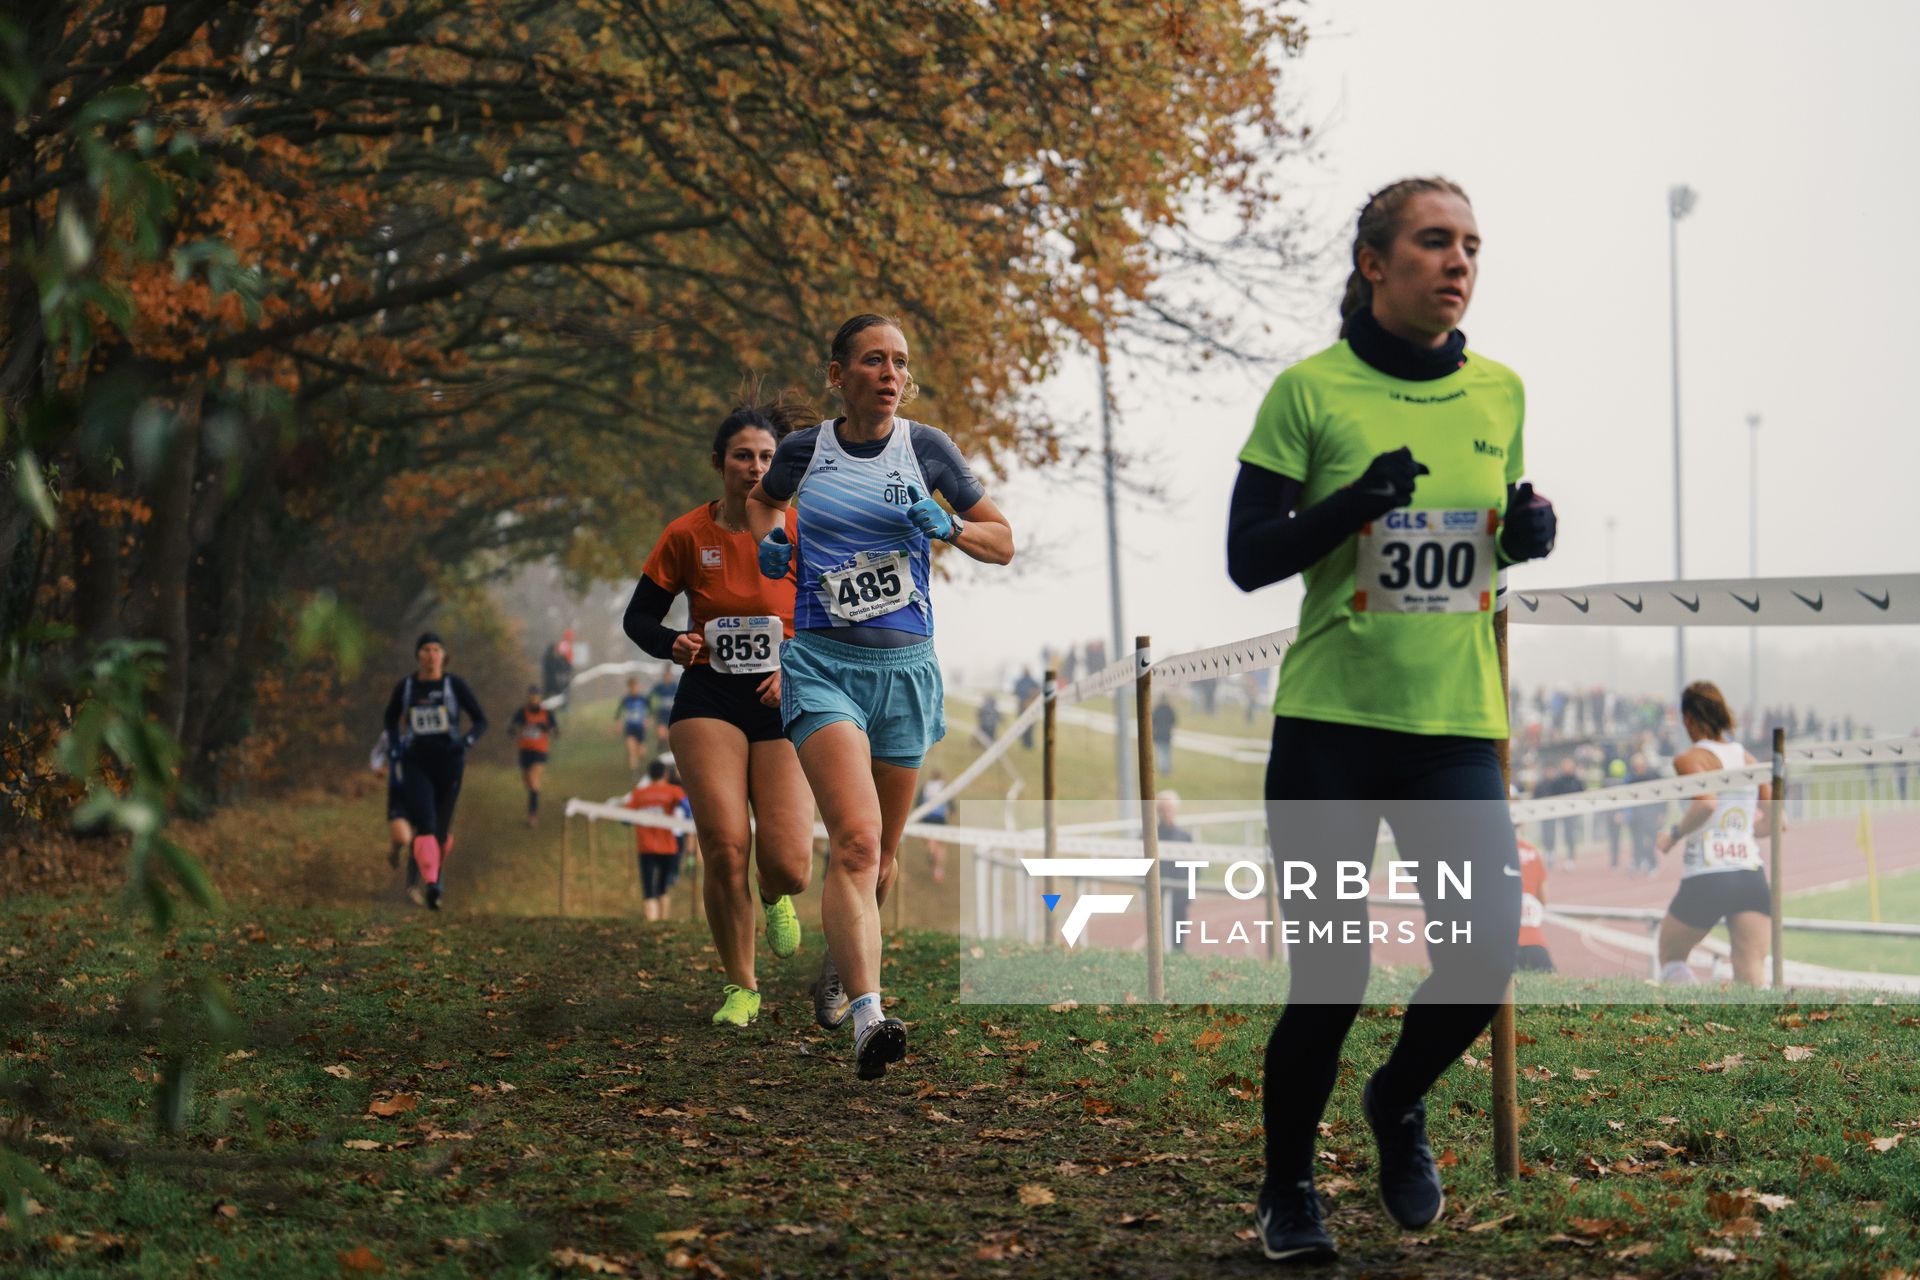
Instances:
[[[947,737],[947,685],[933,641],[868,649],[799,631],[780,647],[780,723],[795,747],[847,720],[876,760],[918,770]]]

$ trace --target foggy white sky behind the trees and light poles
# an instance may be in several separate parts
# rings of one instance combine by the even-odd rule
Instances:
[[[1920,349],[1920,6],[1329,0],[1306,19],[1313,40],[1288,90],[1325,127],[1323,157],[1294,169],[1315,221],[1348,228],[1367,192],[1415,173],[1473,198],[1486,248],[1465,330],[1526,380],[1528,476],[1561,514],[1559,549],[1515,585],[1672,576],[1672,182],[1699,192],[1680,225],[1688,576],[1747,572],[1749,413],[1763,416],[1763,576],[1920,568],[1907,386]],[[1332,340],[1336,284],[1319,330],[1294,336],[1302,353]],[[1240,595],[1223,551],[1235,455],[1277,368],[1117,372],[1123,447],[1156,455],[1171,493],[1123,512],[1129,637],[1148,631],[1173,652],[1290,626],[1298,587]],[[1091,368],[1069,367],[1048,397],[1091,418]],[[995,487],[1041,555],[1018,576],[970,566],[937,591],[948,668],[972,676],[1106,633],[1091,480]],[[1693,631],[1688,676],[1743,704],[1745,652],[1743,631]],[[1665,689],[1670,654],[1665,629],[1528,628],[1515,672],[1590,683],[1611,662],[1622,685]],[[1914,658],[1914,628],[1763,631],[1761,693],[1903,731],[1920,725]]]

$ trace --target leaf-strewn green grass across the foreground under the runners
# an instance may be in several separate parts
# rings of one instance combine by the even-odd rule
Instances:
[[[724,1034],[691,923],[271,908],[167,946],[250,1019],[179,1136],[150,1125],[165,1046],[129,1013],[154,944],[83,902],[0,921],[0,1132],[42,1169],[10,1276],[1261,1270],[1238,1238],[1258,1009],[956,1004],[956,940],[908,933],[885,988],[912,1055],[858,1084],[808,1017],[816,935]],[[1357,1115],[1396,1021],[1363,1011],[1321,1138],[1359,1272],[1880,1276],[1920,1249],[1920,1136],[1872,1148],[1920,1117],[1905,1009],[1526,1007],[1526,1176],[1492,1176],[1476,1046],[1430,1096],[1450,1199],[1419,1236],[1375,1205]]]

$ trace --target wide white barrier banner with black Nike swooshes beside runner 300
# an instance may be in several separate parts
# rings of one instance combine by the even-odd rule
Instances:
[[[1507,591],[1507,620],[1561,628],[1920,624],[1920,574],[1701,578]]]

